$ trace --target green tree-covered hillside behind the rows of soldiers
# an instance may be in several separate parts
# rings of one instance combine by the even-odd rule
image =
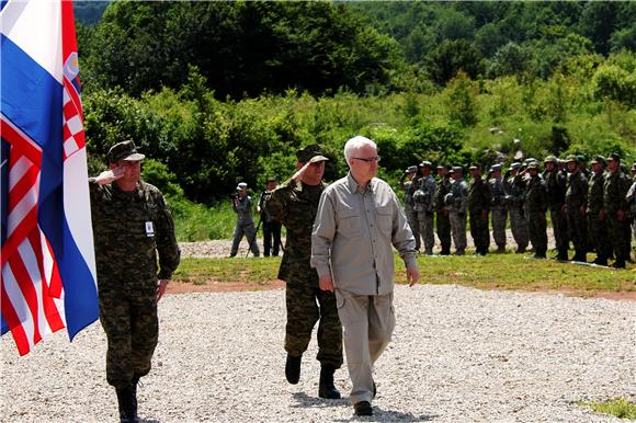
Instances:
[[[636,153],[633,2],[113,2],[78,24],[91,172],[133,138],[145,178],[211,204],[293,152],[375,139],[422,159]]]

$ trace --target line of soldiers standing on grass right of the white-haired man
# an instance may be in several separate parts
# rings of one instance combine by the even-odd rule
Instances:
[[[405,171],[400,181],[405,213],[423,252],[433,254],[434,232],[441,243],[440,255],[451,254],[451,239],[455,254],[466,250],[466,226],[475,242],[475,254],[486,255],[490,245],[490,230],[497,252],[506,252],[506,227],[510,216],[516,253],[524,253],[532,243],[534,258],[547,253],[546,213],[549,211],[556,243],[555,260],[567,261],[573,245],[572,261],[584,262],[588,252],[595,252],[593,263],[624,268],[629,258],[632,232],[636,237],[636,162],[632,178],[621,165],[621,157],[598,156],[588,169],[581,157],[568,156],[559,160],[548,156],[544,170],[536,159],[510,164],[493,164],[488,176],[481,175],[479,164],[472,164],[472,180],[464,180],[462,167],[433,165],[422,161]],[[632,230],[629,224],[632,222]]]

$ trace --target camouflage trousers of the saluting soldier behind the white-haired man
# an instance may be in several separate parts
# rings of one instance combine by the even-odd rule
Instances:
[[[311,331],[318,320],[318,355],[321,365],[342,365],[342,325],[338,318],[336,295],[317,286],[287,283],[287,325],[285,351],[298,356],[307,351]]]

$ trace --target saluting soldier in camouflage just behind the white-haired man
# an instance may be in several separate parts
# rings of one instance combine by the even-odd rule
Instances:
[[[342,365],[342,325],[333,293],[318,287],[318,274],[311,268],[311,227],[327,186],[322,182],[325,161],[320,146],[311,145],[296,151],[298,171],[283,182],[265,202],[265,213],[287,229],[287,242],[279,278],[285,288],[287,324],[285,328],[285,377],[298,384],[303,353],[311,340],[311,330],[318,323],[318,355],[320,380],[318,396],[340,398],[333,385],[333,373]]]

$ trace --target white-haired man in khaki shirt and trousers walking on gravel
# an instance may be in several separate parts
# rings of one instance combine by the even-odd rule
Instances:
[[[311,233],[311,266],[320,289],[336,291],[344,328],[344,348],[356,415],[372,415],[373,365],[390,342],[394,258],[407,265],[407,282],[418,282],[416,240],[390,186],[375,178],[377,147],[365,137],[344,146],[350,172],[328,186]]]

